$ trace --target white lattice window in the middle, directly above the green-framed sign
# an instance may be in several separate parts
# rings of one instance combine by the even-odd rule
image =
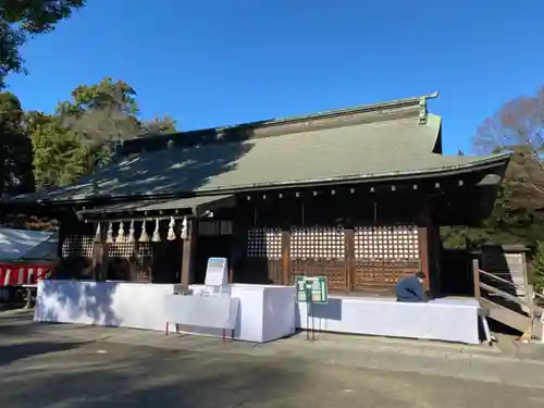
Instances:
[[[344,228],[313,227],[290,231],[290,257],[337,259],[346,255]]]

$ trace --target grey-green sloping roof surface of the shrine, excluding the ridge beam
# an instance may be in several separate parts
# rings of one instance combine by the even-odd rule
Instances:
[[[421,175],[500,160],[500,157],[432,153],[440,127],[440,116],[429,114],[425,124],[420,124],[418,116],[412,115],[137,153],[82,178],[77,185],[49,191],[40,198],[64,201],[95,196],[228,193],[300,183]]]

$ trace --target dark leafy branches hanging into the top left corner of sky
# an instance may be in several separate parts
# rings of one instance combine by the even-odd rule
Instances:
[[[20,47],[28,35],[48,33],[86,0],[2,0],[0,3],[0,89],[12,72],[24,72]]]

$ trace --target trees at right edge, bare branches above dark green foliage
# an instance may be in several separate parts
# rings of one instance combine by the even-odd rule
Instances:
[[[544,239],[543,129],[544,88],[505,103],[479,126],[473,137],[477,152],[510,151],[512,159],[492,217],[482,228],[465,228],[466,237],[529,246]]]

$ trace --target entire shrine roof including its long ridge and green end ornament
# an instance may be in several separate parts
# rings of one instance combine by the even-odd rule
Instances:
[[[509,154],[433,153],[441,118],[425,98],[153,138],[76,185],[18,199],[194,196],[249,189],[422,177],[506,165]],[[233,132],[233,129],[237,132]],[[239,131],[243,132],[239,132]],[[203,132],[203,133],[202,133]],[[210,134],[213,136],[210,138]],[[234,135],[234,136],[232,136]],[[170,140],[170,143],[168,143]],[[166,147],[168,146],[168,147]]]

